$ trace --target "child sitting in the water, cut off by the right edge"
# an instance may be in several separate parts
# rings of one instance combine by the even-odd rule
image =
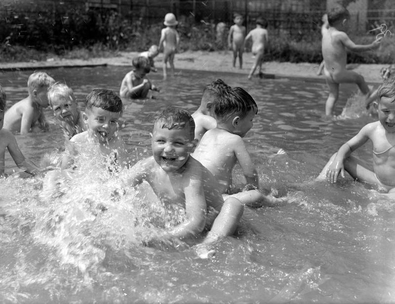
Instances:
[[[317,180],[336,183],[346,170],[354,179],[395,192],[395,79],[385,79],[378,88],[378,103],[373,106],[379,120],[368,123],[356,136],[340,147],[322,169]],[[373,171],[351,153],[370,140],[373,144]]]

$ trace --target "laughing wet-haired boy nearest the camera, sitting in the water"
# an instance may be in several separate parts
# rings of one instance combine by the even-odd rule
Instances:
[[[177,243],[211,228],[197,247],[199,256],[207,258],[213,254],[210,243],[235,232],[243,205],[236,198],[224,202],[214,176],[191,156],[196,144],[192,116],[182,109],[167,108],[154,124],[153,156],[136,163],[127,180],[132,187],[147,181],[162,202],[185,208],[185,221],[163,231],[153,242]]]

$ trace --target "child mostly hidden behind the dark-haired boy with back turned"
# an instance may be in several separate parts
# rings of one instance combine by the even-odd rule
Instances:
[[[199,108],[192,114],[195,120],[195,138],[200,141],[203,134],[217,126],[214,118],[214,98],[225,88],[229,86],[222,80],[217,79],[210,84],[207,84],[203,89]]]

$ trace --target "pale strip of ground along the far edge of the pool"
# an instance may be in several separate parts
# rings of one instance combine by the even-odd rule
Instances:
[[[92,58],[89,60],[79,59],[58,59],[48,58],[46,61],[29,61],[8,63],[0,62],[0,71],[10,71],[15,69],[45,69],[53,67],[70,67],[70,66],[95,66],[95,65],[122,65],[131,66],[133,57],[137,56],[137,52],[120,52],[118,56],[108,58]],[[161,71],[162,54],[155,58],[155,64],[159,72]],[[176,70],[201,70],[215,71],[224,73],[237,73],[240,76],[247,77],[248,72],[253,64],[251,53],[243,54],[243,68],[232,67],[231,51],[187,51],[176,54],[174,65]],[[315,79],[324,81],[323,76],[317,76],[318,63],[289,63],[289,62],[265,62],[263,65],[263,73],[268,77],[297,77],[306,79]],[[387,65],[379,64],[359,64],[350,65],[349,68],[357,73],[362,74],[365,80],[370,83],[381,83],[380,69]]]

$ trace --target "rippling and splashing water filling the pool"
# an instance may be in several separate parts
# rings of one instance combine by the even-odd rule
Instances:
[[[55,69],[81,109],[93,88],[116,92],[128,67]],[[31,71],[0,75],[8,106],[26,97]],[[395,206],[349,176],[336,185],[311,183],[332,153],[374,118],[341,86],[335,119],[324,117],[324,83],[182,71],[162,81],[156,99],[125,101],[119,131],[133,161],[151,154],[149,133],[159,111],[191,113],[206,84],[220,77],[255,99],[258,114],[244,138],[260,183],[288,203],[246,208],[237,234],[215,244],[216,257],[192,249],[142,246],[142,240],[183,219],[162,206],[149,186],[123,192],[117,178],[81,157],[61,193],[43,178],[0,179],[0,301],[3,303],[394,303]],[[50,132],[16,135],[36,163],[55,161],[62,132],[49,109]],[[282,148],[287,153],[276,155]],[[371,162],[371,145],[355,154]],[[84,158],[85,157],[85,158]],[[90,157],[91,159],[92,157]],[[48,160],[49,159],[49,160]],[[6,153],[6,173],[18,171]],[[25,176],[23,176],[25,177]],[[242,181],[235,169],[236,183]],[[117,193],[117,195],[114,195]]]

